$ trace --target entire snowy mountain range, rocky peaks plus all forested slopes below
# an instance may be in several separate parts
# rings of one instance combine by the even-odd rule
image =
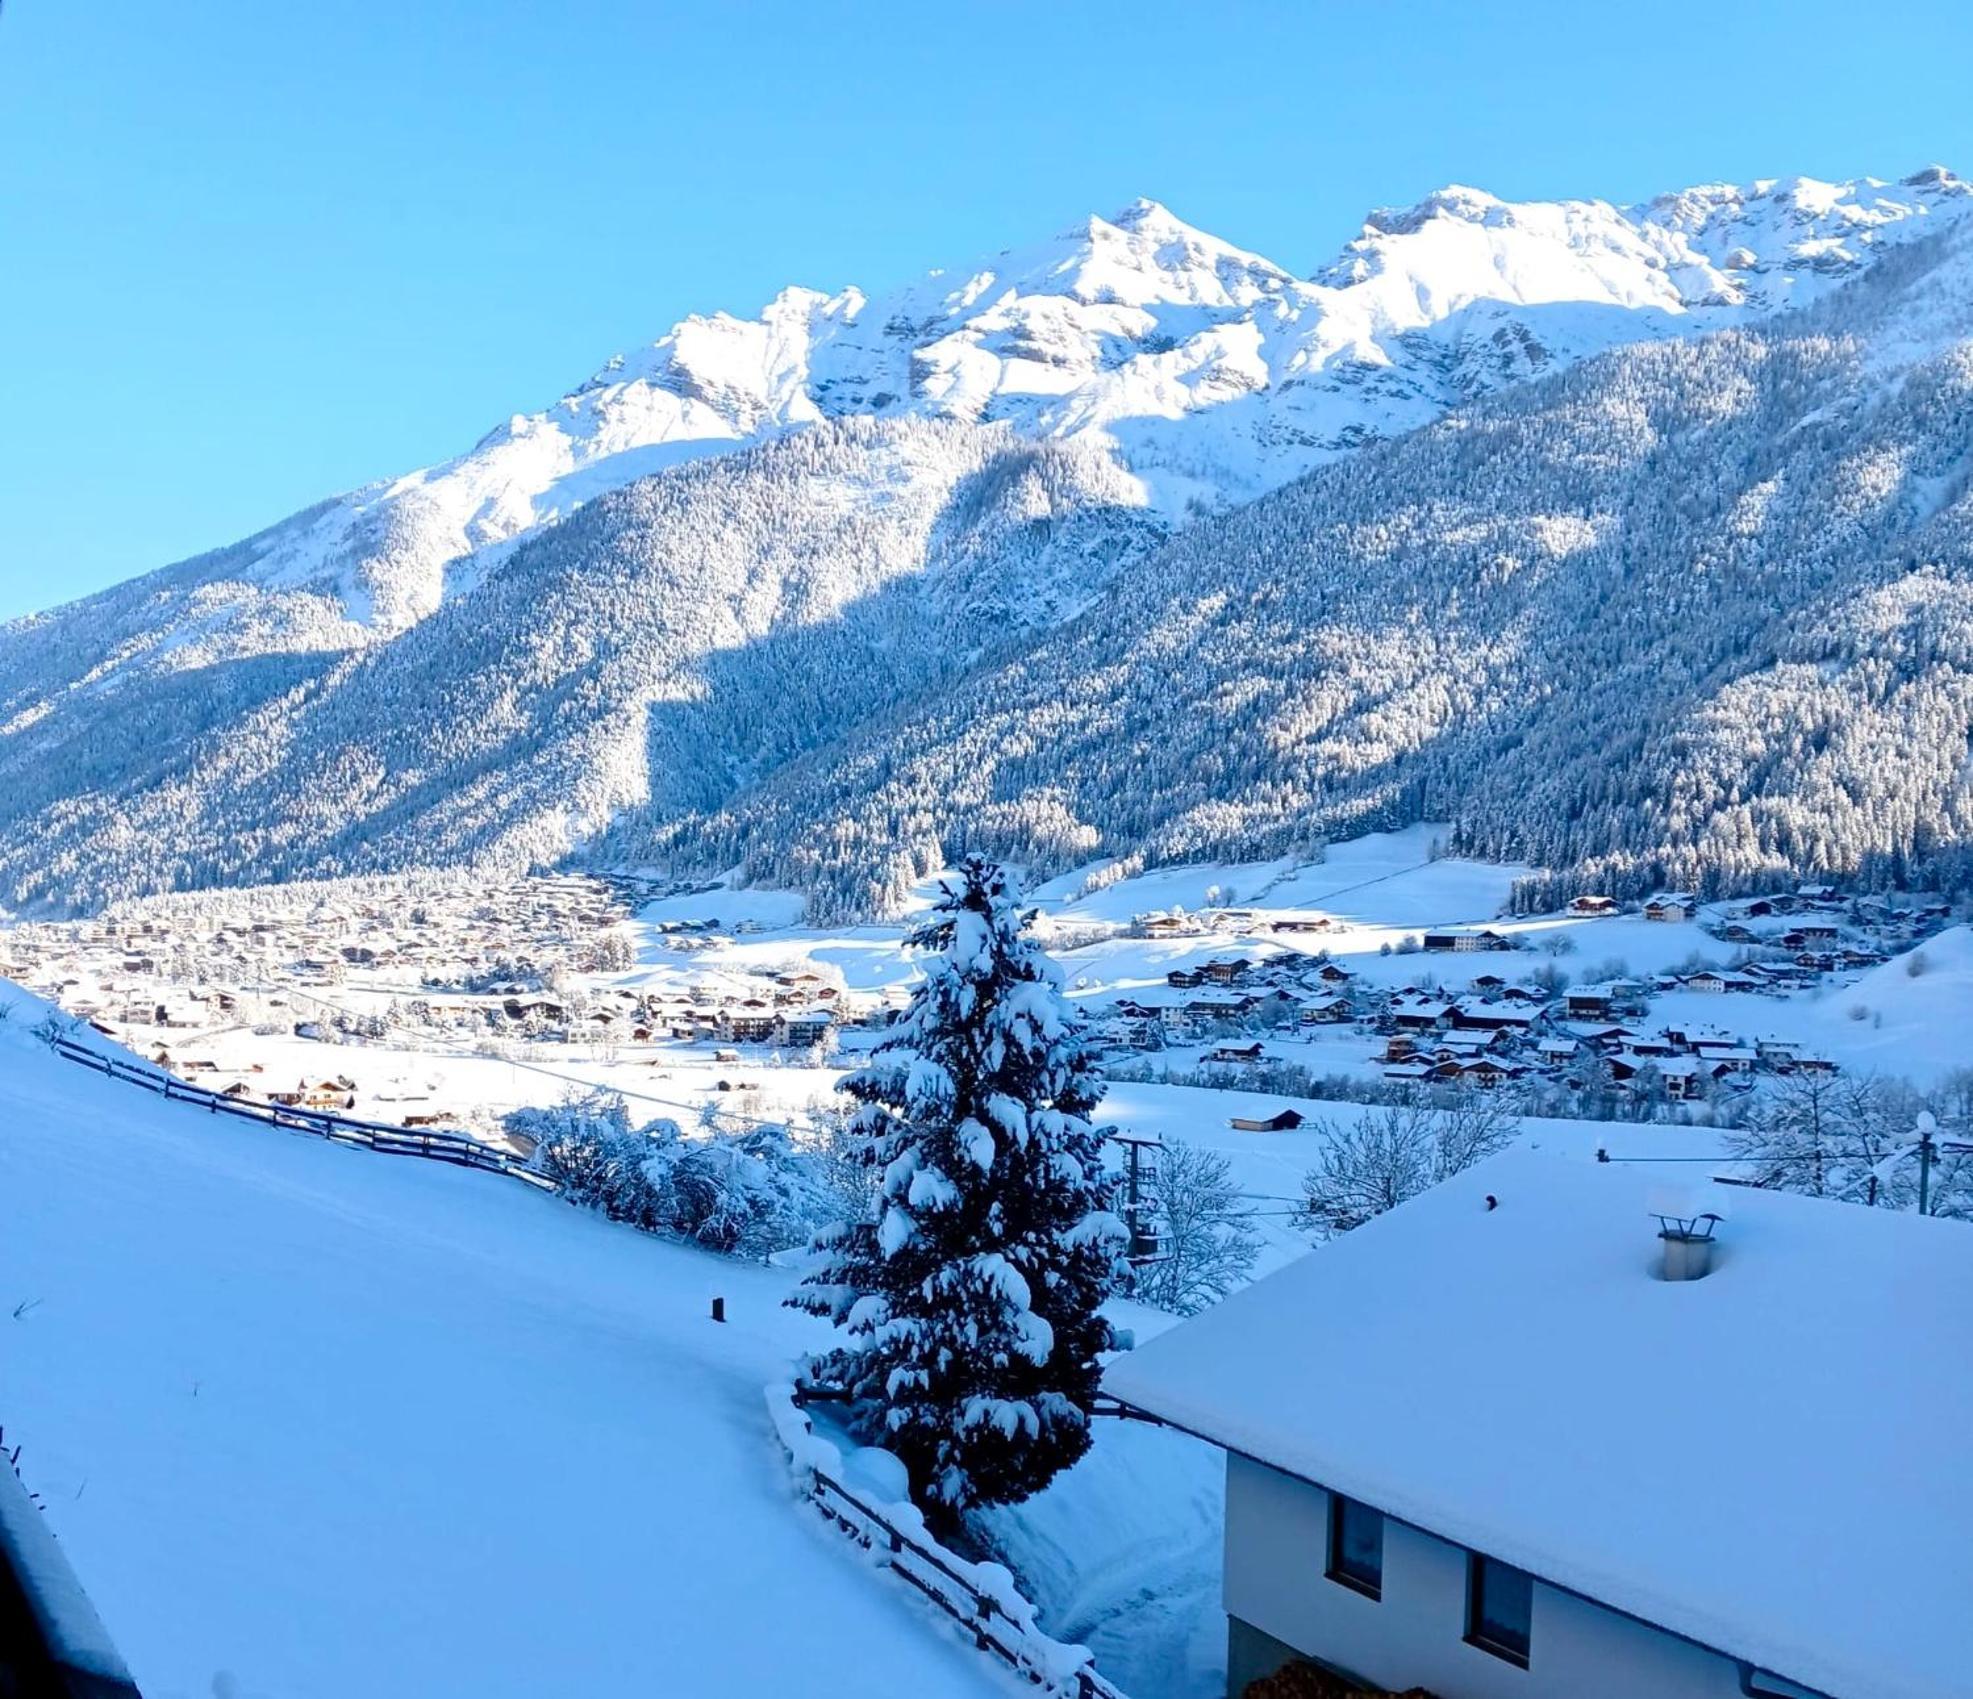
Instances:
[[[1545,898],[1959,886],[1969,209],[1450,187],[1304,278],[1138,201],[687,320],[0,628],[0,902],[574,860],[840,918],[1428,819]]]

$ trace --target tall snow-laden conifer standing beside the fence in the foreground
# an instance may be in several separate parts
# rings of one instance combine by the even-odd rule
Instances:
[[[1006,874],[971,856],[912,933],[937,959],[844,1081],[878,1196],[789,1298],[848,1336],[815,1379],[947,1514],[1024,1500],[1089,1448],[1127,1237],[1089,1119],[1101,1081],[1024,923]]]

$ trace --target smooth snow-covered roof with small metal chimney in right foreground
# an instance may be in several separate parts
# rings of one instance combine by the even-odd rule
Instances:
[[[1665,1283],[1651,1186],[1496,1156],[1105,1387],[1791,1681],[1961,1699],[1973,1229],[1699,1184],[1718,1263]]]

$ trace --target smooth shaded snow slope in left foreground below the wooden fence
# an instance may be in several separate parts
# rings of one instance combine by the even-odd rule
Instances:
[[[34,1010],[0,1419],[148,1699],[1010,1691],[793,1498],[787,1275],[162,1103]]]

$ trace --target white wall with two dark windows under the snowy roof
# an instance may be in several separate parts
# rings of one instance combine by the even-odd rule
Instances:
[[[1324,1577],[1328,1494],[1227,1454],[1225,1608],[1263,1634],[1393,1691],[1440,1699],[1738,1699],[1738,1667],[1535,1583],[1529,1667],[1466,1634],[1466,1551],[1383,1529],[1383,1598]],[[1235,1673],[1259,1673],[1253,1669]]]

